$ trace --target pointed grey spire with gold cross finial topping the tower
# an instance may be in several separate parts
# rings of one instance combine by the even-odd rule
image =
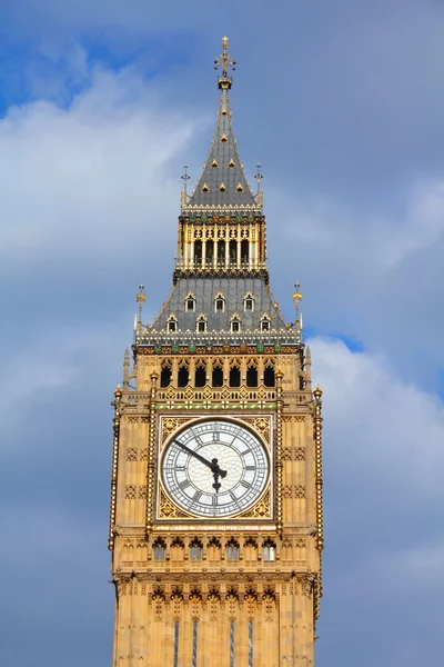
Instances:
[[[215,132],[198,185],[190,198],[184,195],[184,209],[188,207],[262,208],[261,198],[254,197],[246,182],[231,125],[230,90],[233,80],[229,77],[228,69],[229,67],[235,69],[235,60],[229,56],[228,47],[229,39],[224,37],[223,52],[214,60],[214,69],[222,68],[222,76],[218,77],[221,92]]]

